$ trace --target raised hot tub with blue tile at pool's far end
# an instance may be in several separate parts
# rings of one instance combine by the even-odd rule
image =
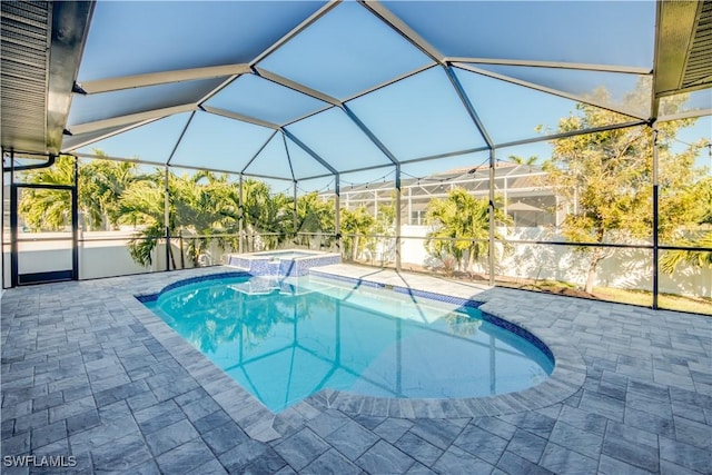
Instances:
[[[342,256],[336,253],[320,253],[304,249],[268,250],[251,254],[231,254],[228,266],[247,270],[254,276],[298,277],[309,274],[312,267],[339,264]]]

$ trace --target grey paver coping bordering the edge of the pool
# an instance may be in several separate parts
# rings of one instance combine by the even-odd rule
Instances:
[[[123,303],[136,318],[188,370],[222,409],[250,437],[260,442],[280,438],[294,427],[297,420],[316,417],[324,409],[338,409],[352,415],[403,418],[485,417],[534,410],[560,403],[572,396],[583,386],[586,377],[586,365],[583,356],[575,347],[567,344],[566,339],[557,331],[548,329],[546,326],[534,325],[535,323],[523,314],[502,313],[495,308],[488,308],[486,298],[471,299],[476,301],[476,306],[486,314],[521,327],[548,347],[555,364],[554,370],[547,379],[536,386],[516,393],[467,398],[402,399],[323,389],[275,414],[139,300],[139,296],[158,294],[170,286],[175,288],[177,285],[181,285],[184,280],[216,279],[235,275],[236,273],[231,268],[219,267],[204,269],[200,274],[196,277],[186,277],[185,274],[177,275],[170,279],[171,281],[168,285],[164,280],[157,285],[160,288],[146,288],[141,293],[121,297],[121,299],[123,299]],[[337,275],[335,271],[325,270],[324,268],[315,271],[315,274],[326,275],[330,278]],[[347,276],[340,277],[348,278]],[[378,279],[374,277],[362,277],[356,280],[362,285],[380,285]],[[418,294],[437,295],[437,293],[422,288],[408,287],[408,290]]]

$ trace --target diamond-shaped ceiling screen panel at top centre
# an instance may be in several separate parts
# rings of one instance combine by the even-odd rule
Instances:
[[[360,4],[344,2],[258,66],[344,100],[428,63]]]

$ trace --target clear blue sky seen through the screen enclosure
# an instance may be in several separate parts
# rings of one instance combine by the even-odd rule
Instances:
[[[635,72],[652,68],[653,1],[384,4],[447,57],[624,66]],[[101,1],[95,9],[78,82],[250,61],[319,6],[294,1]],[[633,18],[635,21],[631,21]],[[233,81],[205,105],[286,125],[308,151],[290,140],[286,140],[285,149],[285,139],[280,133],[274,136],[269,128],[205,111],[197,111],[194,117],[178,113],[78,151],[91,154],[96,147],[112,157],[159,162],[170,157],[176,166],[245,170],[290,180],[293,172],[297,179],[329,172],[312,159],[310,152],[339,171],[390,164],[363,128],[400,161],[485,147],[486,140],[457,88],[462,88],[486,133],[497,145],[555,132],[560,118],[576,113],[576,98],[592,97],[599,87],[610,93],[596,99],[596,103],[639,118],[649,113],[647,103],[641,108],[625,102],[625,96],[645,80],[644,73],[465,62],[448,75],[355,2],[330,10],[256,66],[346,101],[360,123],[340,110],[324,110],[329,107],[325,101],[250,75]],[[357,97],[363,90],[413,71],[421,72]],[[68,128],[179,106],[190,98],[206,97],[224,80],[202,79],[78,97]],[[522,86],[527,83],[546,91]],[[550,93],[554,91],[557,92]],[[706,96],[701,103],[712,108]],[[290,123],[310,113],[314,115]],[[694,128],[681,132],[680,140],[709,139],[711,129],[709,117],[700,119]],[[535,155],[543,160],[550,154],[547,142],[538,142],[502,149],[497,156],[506,159],[510,155]],[[473,161],[482,161],[481,156],[454,157],[437,165],[413,164],[404,166],[404,170],[423,176],[436,169],[478,165]],[[705,165],[708,158],[699,160]],[[289,167],[290,162],[294,167]],[[380,168],[343,179],[368,181],[389,171],[390,168]],[[320,181],[324,180],[312,185]]]

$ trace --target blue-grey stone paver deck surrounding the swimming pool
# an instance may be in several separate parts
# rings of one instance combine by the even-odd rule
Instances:
[[[6,290],[3,457],[76,457],[61,473],[712,473],[710,317],[324,267],[474,296],[550,345],[561,377],[422,407],[325,390],[275,416],[134,297],[229,270]]]

